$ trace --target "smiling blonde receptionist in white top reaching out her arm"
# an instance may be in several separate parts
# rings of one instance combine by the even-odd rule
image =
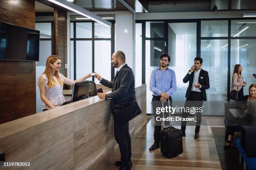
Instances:
[[[74,82],[83,81],[91,77],[90,73],[77,80],[70,80],[61,73],[61,58],[57,55],[50,55],[46,60],[46,69],[38,78],[40,97],[43,103],[43,111],[61,106],[64,102],[63,83],[73,85]]]

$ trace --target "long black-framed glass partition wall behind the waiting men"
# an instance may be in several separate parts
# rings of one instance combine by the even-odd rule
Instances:
[[[182,79],[202,57],[202,69],[208,71],[208,101],[228,101],[234,65],[243,67],[244,95],[256,83],[256,20],[253,18],[195,20],[137,20],[141,32],[142,83],[147,84],[147,113],[151,113],[152,92],[149,90],[151,71],[159,67],[159,56],[171,57],[169,68],[176,72],[177,91],[173,100],[184,101],[188,84]],[[137,30],[136,30],[137,31]],[[136,52],[139,50],[137,49]]]

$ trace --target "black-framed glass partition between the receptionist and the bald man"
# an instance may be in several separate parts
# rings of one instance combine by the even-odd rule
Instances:
[[[74,65],[74,72],[71,72],[74,79],[94,71],[108,80],[114,78],[111,66],[111,55],[114,52],[114,21],[110,22],[111,28],[93,21],[71,21],[70,61],[71,65]],[[94,77],[87,80],[100,84]]]

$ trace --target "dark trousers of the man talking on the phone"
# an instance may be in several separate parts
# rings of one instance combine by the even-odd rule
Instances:
[[[195,102],[193,102],[195,101]],[[195,92],[195,91],[191,91],[189,98],[186,99],[184,108],[186,107],[202,107],[203,104],[203,97],[202,97],[202,93],[201,92]],[[182,112],[182,118],[187,118],[187,116],[189,115],[189,112]],[[200,125],[201,125],[201,117],[202,117],[202,112],[197,112],[197,122],[196,122],[196,128],[195,128],[195,133],[199,133],[200,130]],[[181,126],[181,130],[182,133],[185,133],[186,130],[186,124],[187,121],[182,121],[182,126]]]

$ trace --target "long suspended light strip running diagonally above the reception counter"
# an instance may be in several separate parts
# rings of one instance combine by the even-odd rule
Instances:
[[[107,27],[111,27],[111,23],[106,21],[106,20],[103,20],[102,18],[100,18],[99,16],[93,14],[93,13],[90,13],[89,11],[85,10],[84,8],[82,7],[79,7],[78,5],[75,5],[71,2],[68,2],[68,1],[63,1],[63,0],[48,0],[50,2],[53,2],[57,5],[60,5],[61,7],[64,7],[64,8],[67,8],[68,10],[72,10],[73,12],[75,13],[78,13],[80,15],[83,15],[87,18],[90,18],[98,23],[101,23],[102,25],[105,25]],[[91,16],[90,16],[91,15]]]

